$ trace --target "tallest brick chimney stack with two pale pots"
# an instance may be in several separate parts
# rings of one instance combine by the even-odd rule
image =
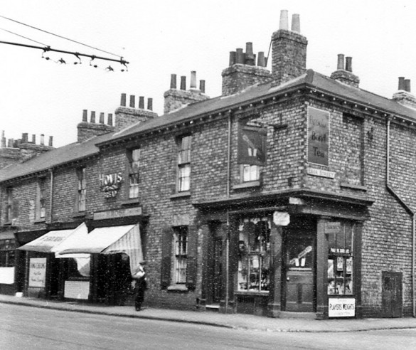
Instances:
[[[299,16],[295,16],[294,28],[300,28]],[[272,85],[280,85],[306,72],[307,45],[308,41],[299,32],[288,30],[287,10],[282,10],[279,30],[272,35]]]

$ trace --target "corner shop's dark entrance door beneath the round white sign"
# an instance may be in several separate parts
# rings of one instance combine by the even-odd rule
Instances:
[[[316,224],[289,225],[284,232],[283,305],[288,312],[314,312]]]

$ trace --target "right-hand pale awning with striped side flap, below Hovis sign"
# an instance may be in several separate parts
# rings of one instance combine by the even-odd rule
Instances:
[[[80,254],[125,253],[130,258],[132,275],[143,263],[142,240],[137,225],[95,228],[90,233],[74,233],[54,248],[56,258],[72,258]]]

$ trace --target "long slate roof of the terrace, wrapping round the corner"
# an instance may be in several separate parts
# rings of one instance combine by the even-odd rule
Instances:
[[[29,159],[21,164],[11,165],[4,169],[0,169],[0,181],[13,179],[18,176],[25,176],[70,161],[90,157],[97,154],[99,150],[97,145],[122,140],[153,129],[174,125],[178,122],[186,122],[203,115],[213,114],[214,112],[226,111],[230,108],[238,107],[241,104],[262,100],[269,96],[279,95],[302,87],[311,88],[311,90],[316,90],[317,92],[325,92],[326,94],[339,97],[343,100],[356,102],[358,105],[373,107],[376,110],[382,110],[393,115],[404,117],[408,120],[416,121],[416,110],[412,108],[400,105],[400,103],[386,97],[375,95],[373,92],[339,83],[325,75],[314,72],[314,70],[307,70],[304,75],[300,75],[298,78],[290,80],[282,85],[275,87],[272,86],[272,83],[252,85],[234,95],[219,96],[209,100],[195,102],[167,113],[166,115],[162,115],[161,117],[155,117],[146,122],[133,124],[119,132],[111,132],[109,134],[94,137],[86,142],[68,144],[67,146],[54,149],[53,151],[41,154],[40,156]]]

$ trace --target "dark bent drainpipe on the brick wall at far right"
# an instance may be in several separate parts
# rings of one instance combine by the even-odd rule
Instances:
[[[415,245],[416,245],[416,234],[415,234],[415,212],[412,211],[410,206],[407,206],[405,201],[395,193],[393,188],[390,186],[390,122],[391,117],[387,120],[387,149],[386,149],[386,169],[385,169],[385,186],[388,191],[396,198],[396,200],[402,205],[403,208],[410,214],[412,218],[412,316],[416,317],[416,302],[415,302]]]

